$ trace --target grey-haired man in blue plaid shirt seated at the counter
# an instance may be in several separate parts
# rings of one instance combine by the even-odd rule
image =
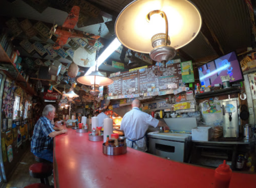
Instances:
[[[55,116],[53,105],[46,105],[42,116],[35,124],[31,141],[31,152],[39,157],[53,162],[53,137],[67,133],[67,129],[53,127],[51,121]]]

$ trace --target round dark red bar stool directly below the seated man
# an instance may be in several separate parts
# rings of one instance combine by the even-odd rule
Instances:
[[[52,164],[39,162],[29,167],[29,174],[34,178],[40,178],[41,183],[49,185],[48,177],[52,175]]]

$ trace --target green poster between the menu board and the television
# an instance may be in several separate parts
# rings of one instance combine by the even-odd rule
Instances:
[[[181,62],[181,76],[182,82],[192,83],[195,82],[192,61]]]

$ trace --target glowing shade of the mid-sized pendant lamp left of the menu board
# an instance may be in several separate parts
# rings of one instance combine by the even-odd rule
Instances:
[[[81,76],[77,79],[77,82],[84,85],[93,85],[94,83],[99,86],[110,85],[114,81],[110,78],[104,77],[100,72],[93,71],[91,74]]]

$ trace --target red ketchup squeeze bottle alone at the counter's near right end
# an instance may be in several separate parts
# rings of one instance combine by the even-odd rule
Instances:
[[[226,160],[215,170],[214,188],[228,188],[232,170],[226,165]]]

